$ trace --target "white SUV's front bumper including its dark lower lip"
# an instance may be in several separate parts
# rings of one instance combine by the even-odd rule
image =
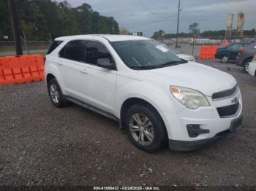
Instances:
[[[227,117],[220,117],[217,108],[230,106],[233,99],[239,102],[236,114]],[[219,138],[219,135],[232,129],[234,121],[240,121],[242,116],[241,93],[238,90],[230,98],[212,101],[208,97],[211,106],[200,107],[198,109],[184,109],[178,114],[165,113],[165,125],[167,128],[170,149],[191,150],[202,147],[211,140]],[[236,102],[237,103],[237,102]],[[208,130],[198,136],[189,136],[187,125],[200,125],[200,129]],[[239,123],[239,125],[241,125]]]

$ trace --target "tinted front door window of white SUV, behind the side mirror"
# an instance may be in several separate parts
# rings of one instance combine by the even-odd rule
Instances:
[[[97,65],[97,59],[109,58],[113,62],[110,52],[99,42],[89,41],[86,43],[86,63]]]

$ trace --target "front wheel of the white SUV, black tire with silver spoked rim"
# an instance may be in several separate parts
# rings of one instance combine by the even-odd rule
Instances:
[[[157,152],[167,144],[165,124],[154,107],[134,105],[127,110],[125,116],[124,126],[130,141],[136,147],[145,152]],[[140,121],[140,125],[137,121]],[[142,125],[144,122],[145,125]],[[144,141],[141,141],[142,139]]]

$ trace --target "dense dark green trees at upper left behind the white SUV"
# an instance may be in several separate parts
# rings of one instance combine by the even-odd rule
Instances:
[[[45,40],[75,34],[118,34],[118,23],[89,4],[71,7],[67,1],[17,0],[20,31],[29,40]],[[0,36],[12,36],[7,0],[0,1]]]

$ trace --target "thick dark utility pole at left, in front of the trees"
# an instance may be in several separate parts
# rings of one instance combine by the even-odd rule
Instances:
[[[13,39],[16,47],[16,55],[23,55],[21,42],[20,42],[20,28],[18,26],[18,17],[17,10],[15,5],[15,0],[8,0],[9,11],[12,18],[12,31],[13,31]]]

